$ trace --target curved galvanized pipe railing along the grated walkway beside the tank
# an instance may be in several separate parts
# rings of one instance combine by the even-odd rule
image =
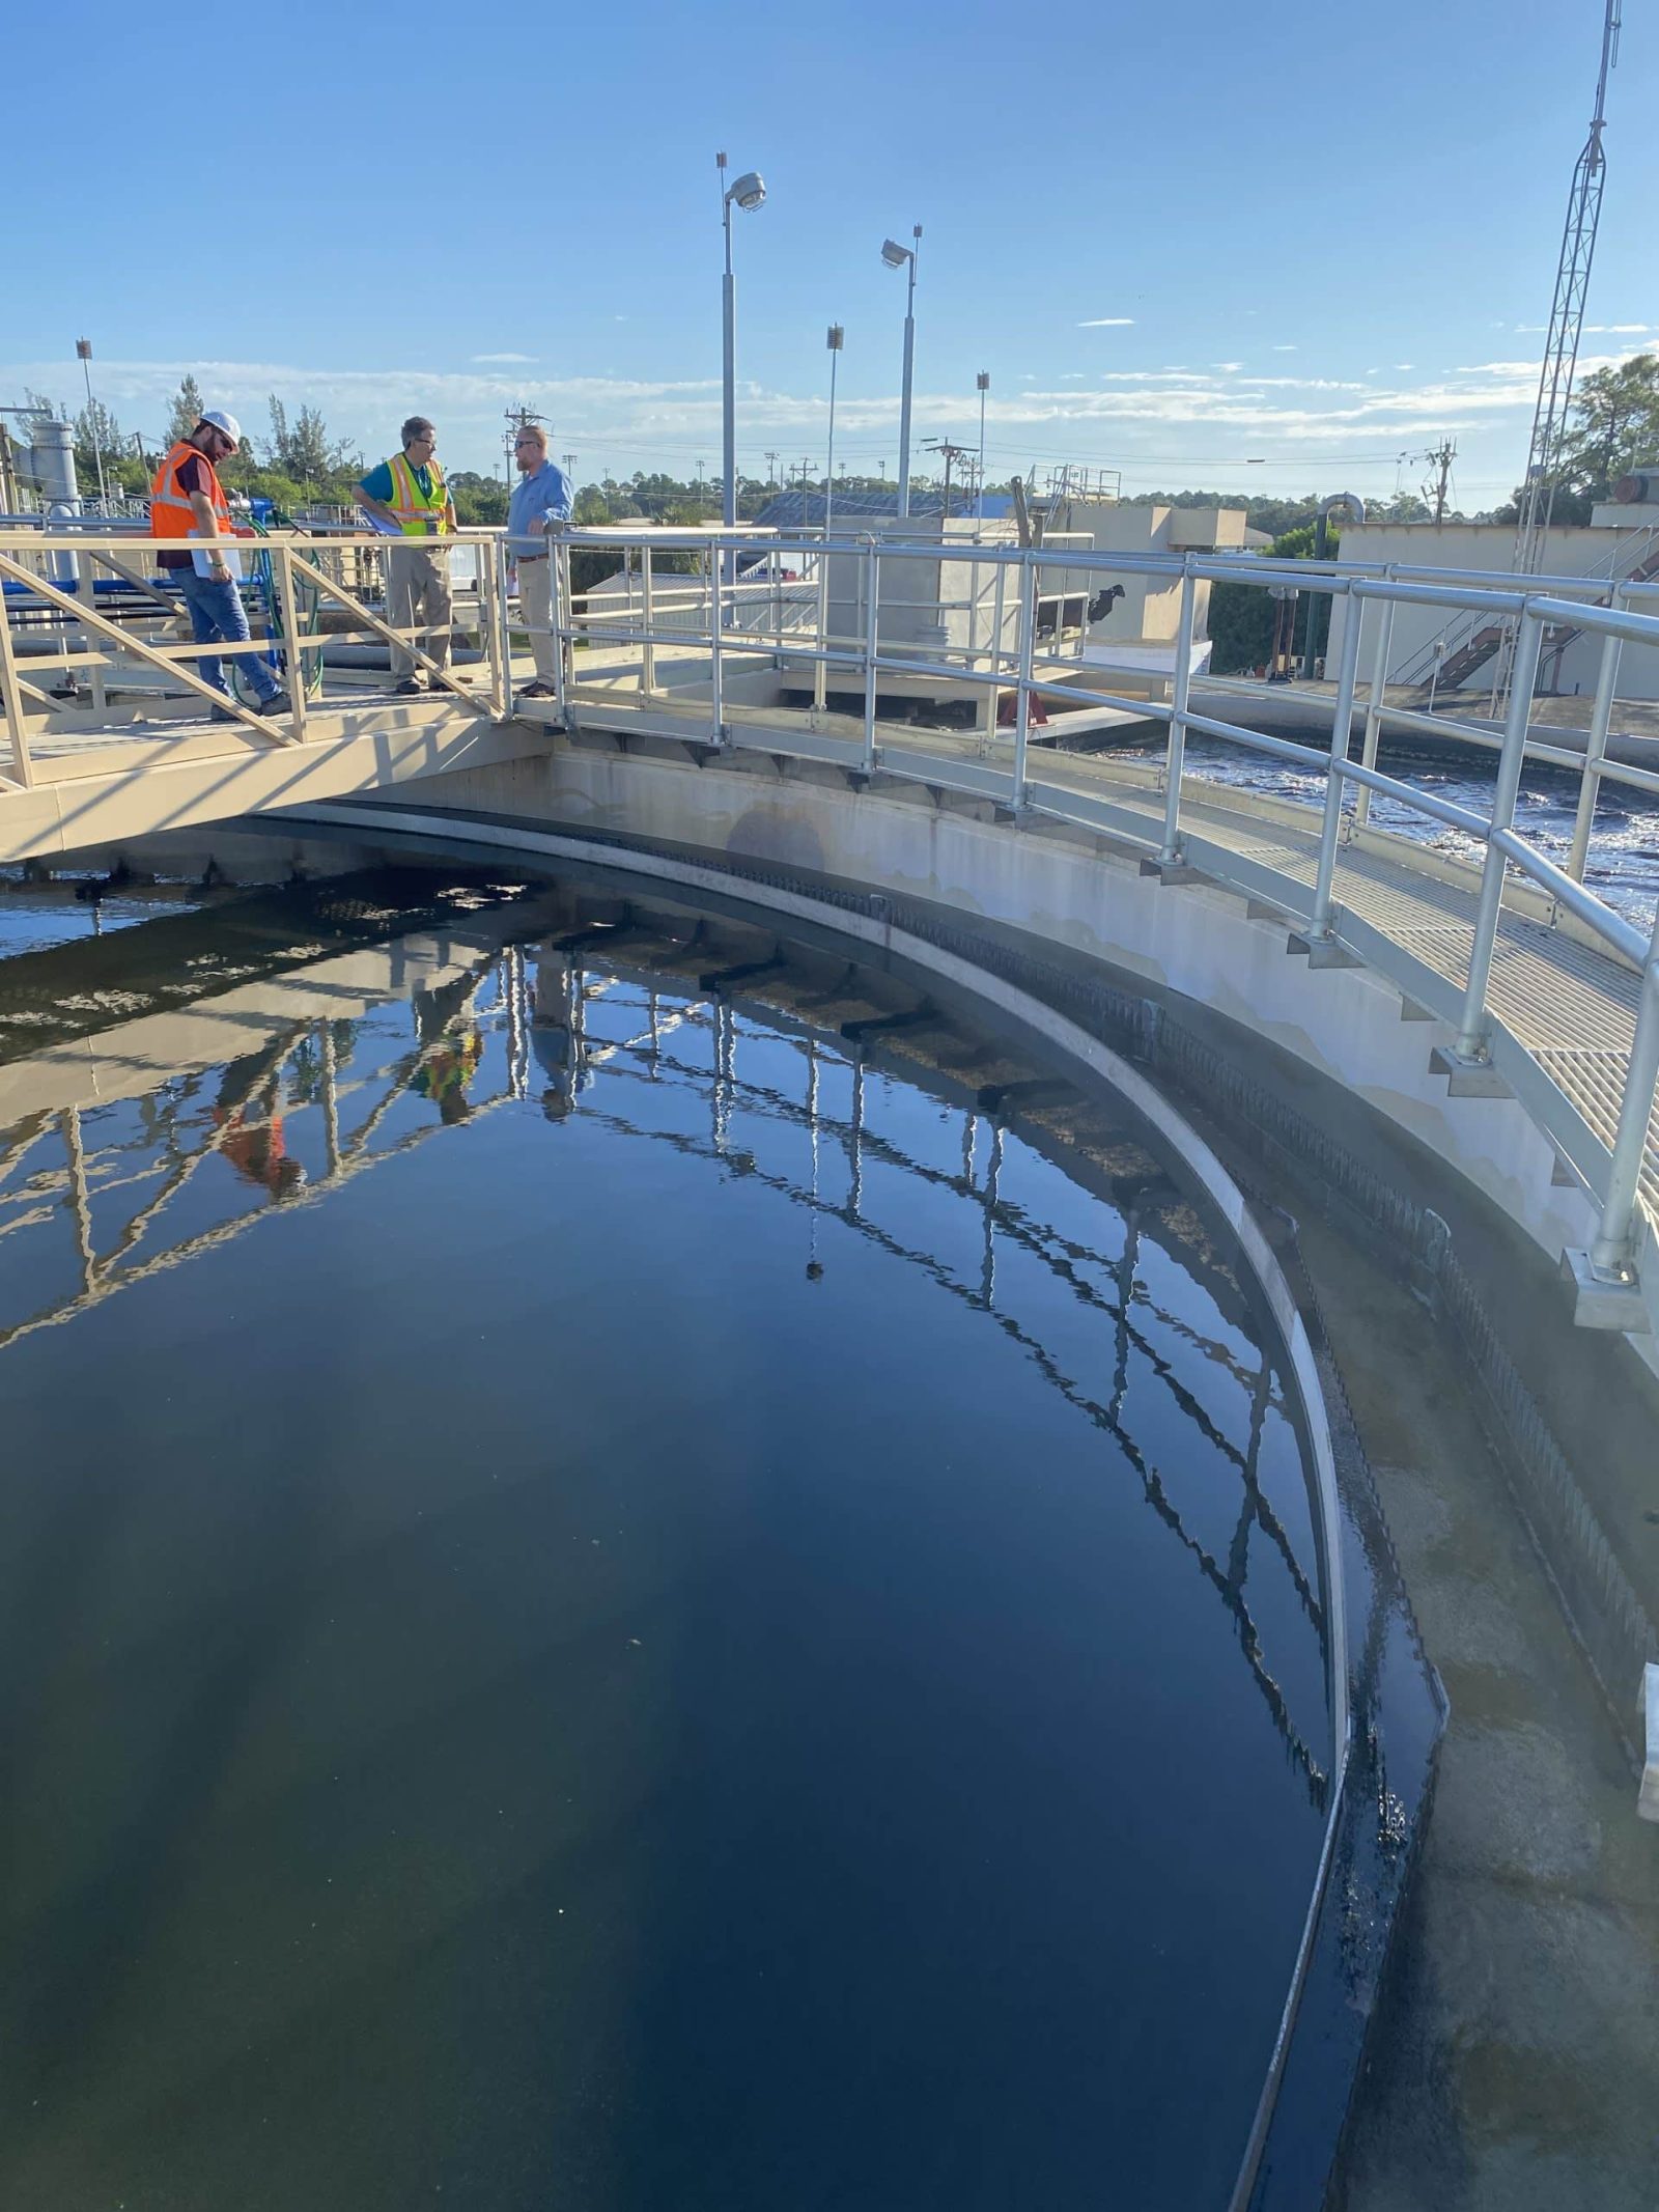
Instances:
[[[752,542],[750,533],[741,529],[721,531],[719,538],[728,549]],[[1228,553],[1084,553],[1066,549],[1055,557],[1042,546],[918,546],[911,540],[894,540],[880,533],[847,533],[843,538],[816,538],[814,549],[821,562],[827,555],[843,555],[856,564],[865,639],[858,644],[849,637],[832,644],[823,608],[818,613],[816,641],[812,635],[792,635],[783,639],[752,628],[737,628],[728,619],[728,608],[732,615],[737,613],[730,602],[730,586],[712,573],[714,560],[710,555],[710,538],[706,533],[692,538],[675,531],[566,531],[557,544],[564,562],[568,562],[573,551],[584,546],[611,546],[615,551],[624,544],[639,546],[646,551],[646,560],[650,549],[701,549],[710,571],[703,588],[706,622],[701,626],[677,628],[672,633],[675,644],[708,648],[714,670],[719,670],[721,655],[726,653],[743,655],[750,661],[757,655],[765,657],[772,653],[779,657],[779,666],[787,661],[790,666],[799,666],[803,670],[818,670],[818,706],[823,706],[825,670],[847,670],[854,681],[860,677],[865,690],[863,745],[858,748],[852,737],[847,737],[845,743],[865,770],[878,768],[885,757],[883,745],[878,743],[878,686],[898,677],[949,686],[953,692],[969,699],[987,699],[987,695],[991,699],[1013,697],[1013,761],[1006,772],[1006,790],[1015,812],[1033,803],[1029,794],[1026,757],[1035,699],[1053,695],[1055,688],[1064,688],[1066,703],[1079,710],[1126,710],[1148,721],[1164,723],[1168,748],[1164,763],[1164,825],[1161,836],[1152,823],[1148,823],[1144,832],[1144,843],[1157,852],[1164,863],[1179,860],[1183,847],[1181,801],[1186,783],[1183,743],[1188,732],[1217,737],[1230,745],[1241,745],[1270,759],[1290,761],[1307,774],[1323,776],[1325,801],[1318,834],[1318,869],[1312,891],[1312,911],[1305,925],[1312,942],[1334,938],[1340,927],[1334,883],[1338,849],[1347,827],[1349,799],[1358,801],[1352,810],[1356,827],[1365,823],[1371,796],[1385,796],[1409,814],[1440,827],[1458,830],[1484,849],[1469,982],[1458,1022],[1458,1055],[1469,1062],[1484,1062],[1491,1053],[1491,962],[1504,902],[1504,878],[1509,869],[1515,867],[1528,883],[1537,885],[1546,900],[1553,900],[1551,911],[1571,916],[1573,922],[1586,929],[1613,960],[1635,967],[1637,973],[1644,975],[1637,1040],[1619,1102],[1619,1130],[1610,1148],[1610,1172],[1604,1192],[1601,1225],[1593,1248],[1597,1274],[1610,1281],[1630,1279],[1639,1239],[1646,1234],[1637,1183],[1648,1117],[1652,1113],[1655,1091],[1659,1088],[1659,1066],[1648,1064],[1655,1055],[1659,1055],[1659,1044],[1655,1044],[1655,1037],[1659,1037],[1659,1009],[1652,1013],[1648,1011],[1655,991],[1659,991],[1659,984],[1655,982],[1655,975],[1659,973],[1659,958],[1624,916],[1615,914],[1593,891],[1584,889],[1584,849],[1579,849],[1579,845],[1588,845],[1588,823],[1582,821],[1584,836],[1575,841],[1575,856],[1568,867],[1562,869],[1537,852],[1524,836],[1520,836],[1513,821],[1520,776],[1528,757],[1546,759],[1551,765],[1577,765],[1582,770],[1584,794],[1588,794],[1588,799],[1582,799],[1582,816],[1586,803],[1593,814],[1593,792],[1604,776],[1619,776],[1621,781],[1637,785],[1646,785],[1650,781],[1659,783],[1659,779],[1652,779],[1646,770],[1619,770],[1606,761],[1608,714],[1615,690],[1613,677],[1608,675],[1608,657],[1617,657],[1619,650],[1630,646],[1650,650],[1657,648],[1659,615],[1637,613],[1630,606],[1586,606],[1582,599],[1573,597],[1575,593],[1597,591],[1599,580],[1595,577],[1515,577],[1513,571],[1469,575],[1436,568],[1378,568],[1378,564],[1263,562],[1256,555]],[[945,646],[931,639],[909,646],[902,639],[883,635],[883,622],[878,617],[894,611],[894,602],[880,595],[883,562],[914,564],[918,557],[931,557],[936,551],[940,557],[982,564],[995,571],[998,577],[1013,577],[1018,582],[1018,588],[1000,586],[998,591],[998,617],[989,648],[975,641],[969,641],[967,646]],[[1181,622],[1172,641],[1172,668],[1177,672],[1177,699],[1172,703],[1148,699],[1137,701],[1115,690],[1075,681],[1075,661],[1060,661],[1035,650],[1037,586],[1044,571],[1053,568],[1064,568],[1068,575],[1117,573],[1181,582]],[[1243,728],[1241,723],[1228,721],[1219,714],[1199,714],[1192,712],[1188,703],[1186,675],[1190,672],[1197,637],[1197,586],[1201,582],[1241,582],[1254,588],[1270,588],[1287,580],[1303,588],[1329,595],[1332,599],[1345,597],[1352,606],[1349,622],[1343,630],[1340,675],[1336,697],[1332,701],[1329,743],[1325,745],[1272,737],[1263,730]],[[1644,586],[1641,593],[1644,597],[1659,597],[1659,586]],[[845,599],[845,588],[841,591],[841,597]],[[1624,597],[1621,591],[1619,597]],[[1378,637],[1376,670],[1371,677],[1367,743],[1365,757],[1360,761],[1352,761],[1349,734],[1358,688],[1360,639],[1374,604],[1383,622],[1383,633]],[[1522,675],[1513,681],[1502,737],[1491,730],[1475,730],[1469,723],[1449,721],[1444,717],[1431,719],[1438,732],[1473,739],[1495,750],[1495,785],[1489,814],[1453,805],[1451,801],[1438,799],[1433,792],[1422,792],[1413,783],[1391,776],[1376,765],[1376,732],[1385,719],[1396,714],[1396,710],[1389,710],[1383,701],[1383,664],[1391,613],[1398,606],[1458,608],[1475,617],[1500,617],[1515,628],[1515,666]],[[1535,664],[1546,626],[1557,622],[1573,622],[1604,639],[1604,681],[1597,688],[1595,721],[1590,726],[1584,761],[1577,761],[1575,754],[1568,754],[1559,745],[1546,745],[1531,737],[1531,686]],[[637,635],[648,653],[653,637],[650,626]],[[619,670],[611,670],[613,677],[617,672]],[[721,697],[723,692],[710,701],[710,723],[706,730],[706,741],[714,748],[730,741]],[[684,690],[677,690],[672,710],[681,714],[688,703],[690,701]],[[1413,717],[1411,726],[1420,728],[1422,717]],[[836,739],[830,741],[836,743]],[[891,748],[887,748],[887,752],[891,752]],[[902,774],[922,774],[914,748],[905,752],[900,745],[900,754]],[[898,761],[898,757],[894,759]],[[929,754],[927,774],[936,781],[949,783],[953,770],[947,759],[933,761]],[[984,774],[987,770],[975,770],[975,776],[982,779]],[[1064,785],[1044,781],[1044,814],[1066,814],[1068,799],[1071,794]],[[1126,834],[1133,838],[1141,836],[1135,827],[1126,827]],[[1655,942],[1659,945],[1659,938]],[[1630,1166],[1632,1159],[1635,1168]]]

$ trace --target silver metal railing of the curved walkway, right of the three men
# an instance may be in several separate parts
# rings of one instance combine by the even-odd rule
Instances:
[[[745,608],[732,586],[723,582],[721,551],[734,551],[741,560],[748,546],[763,546],[765,540],[745,538],[741,531],[726,533],[710,542],[706,533],[697,538],[675,538],[668,531],[568,531],[555,544],[555,564],[568,577],[568,562],[584,551],[606,546],[619,557],[630,553],[650,560],[653,553],[695,553],[701,564],[699,604],[701,626],[692,633],[677,624],[672,633],[637,617],[606,624],[606,641],[637,648],[639,701],[668,706],[677,719],[697,728],[703,743],[721,748],[732,741],[730,708],[732,686],[739,670],[765,666],[774,675],[812,675],[814,706],[823,708],[832,695],[841,708],[858,710],[860,728],[852,728],[849,712],[827,717],[834,728],[823,728],[825,717],[814,717],[821,728],[814,732],[812,750],[843,757],[847,765],[863,772],[885,768],[896,774],[914,774],[931,781],[951,781],[949,763],[929,759],[918,763],[914,752],[902,759],[905,743],[891,719],[883,717],[883,695],[918,686],[936,695],[973,703],[975,719],[987,737],[980,757],[987,759],[995,737],[998,708],[1006,717],[1006,768],[960,763],[956,781],[1006,796],[1020,812],[1031,805],[1029,757],[1031,732],[1040,728],[1040,701],[1064,697],[1066,706],[1084,710],[1106,710],[1110,714],[1133,714],[1166,728],[1164,757],[1164,825],[1152,845],[1159,863],[1177,865],[1183,856],[1183,803],[1190,799],[1183,779],[1183,752],[1188,732],[1217,737],[1296,768],[1325,781],[1325,801],[1318,821],[1318,860],[1312,887],[1305,931],[1312,942],[1332,942],[1338,929],[1338,907],[1334,880],[1338,849],[1347,836],[1365,827],[1371,794],[1383,794],[1396,805],[1422,816],[1440,827],[1455,827],[1484,847],[1484,865],[1475,891],[1473,945],[1467,984],[1458,1013],[1455,1060],[1464,1064],[1486,1064],[1491,1057],[1493,1009],[1491,1009],[1491,964],[1498,945],[1500,909],[1504,885],[1511,872],[1533,883],[1551,911],[1571,916],[1588,931],[1606,953],[1632,967],[1641,978],[1639,1011],[1635,1024],[1632,1053],[1621,1086],[1617,1135],[1610,1146],[1606,1183],[1599,1194],[1599,1232],[1590,1248],[1590,1267],[1597,1281],[1628,1285],[1635,1270],[1637,1239],[1641,1230],[1639,1179],[1648,1124],[1659,1086],[1659,916],[1652,933],[1637,931],[1626,916],[1617,914],[1593,891],[1584,889],[1586,856],[1595,827],[1595,794],[1604,781],[1659,794],[1659,774],[1641,768],[1626,768],[1606,757],[1613,701],[1617,692],[1617,666],[1624,648],[1659,648],[1659,584],[1626,584],[1619,597],[1652,606],[1655,613],[1639,613],[1635,606],[1593,606],[1579,595],[1606,591],[1606,580],[1597,577],[1533,577],[1517,584],[1513,575],[1471,577],[1442,568],[1405,568],[1380,564],[1340,562],[1272,562],[1256,555],[1159,555],[1159,553],[1062,553],[1020,546],[949,546],[938,538],[905,540],[883,538],[836,538],[821,542],[821,571],[838,568],[843,580],[856,573],[858,588],[836,586],[836,604],[830,593],[821,593],[821,615],[816,637],[779,637],[774,626],[750,626]],[[772,542],[774,544],[774,542]],[[894,637],[902,630],[907,602],[883,591],[883,568],[898,566],[900,591],[916,575],[918,562],[964,564],[991,568],[995,575],[995,617],[989,635],[969,622],[967,641],[949,641],[947,624],[933,626],[931,637]],[[1179,588],[1179,619],[1170,653],[1170,699],[1130,697],[1091,681],[1093,670],[1073,655],[1055,650],[1037,635],[1037,606],[1053,604],[1053,593],[1044,591],[1044,571],[1064,571],[1066,591],[1075,593],[1075,577],[1146,577],[1159,588]],[[1248,584],[1270,588],[1294,582],[1303,591],[1345,597],[1349,606],[1343,626],[1340,668],[1334,699],[1329,699],[1329,741],[1298,743],[1272,737],[1261,730],[1225,721],[1217,714],[1199,714],[1190,706],[1190,670],[1194,644],[1199,641],[1199,588],[1206,582]],[[971,606],[980,604],[978,582],[969,593]],[[914,602],[911,602],[914,604]],[[1517,630],[1515,684],[1509,701],[1502,737],[1491,728],[1478,728],[1451,717],[1425,717],[1385,703],[1387,639],[1391,611],[1396,606],[1436,606],[1467,611],[1478,617],[1506,619]],[[562,646],[575,644],[584,635],[568,608],[568,586],[555,595],[555,630]],[[898,613],[898,622],[889,615]],[[852,615],[852,619],[847,619]],[[1356,690],[1360,659],[1367,646],[1367,622],[1374,624],[1371,646],[1371,697],[1365,706],[1365,741],[1358,759],[1349,759],[1349,743],[1356,719]],[[1544,633],[1551,626],[1571,622],[1579,630],[1601,637],[1601,684],[1597,686],[1595,712],[1590,721],[1584,757],[1557,743],[1544,743],[1531,734],[1533,677]],[[838,628],[836,628],[838,624]],[[655,692],[650,681],[650,657],[655,648],[675,644],[699,648],[699,681],[677,684],[672,690]],[[560,659],[557,706],[566,717],[593,712],[602,701],[593,688],[582,684],[580,657],[566,653]],[[608,670],[615,675],[615,670]],[[1272,695],[1267,695],[1272,697]],[[613,701],[615,703],[615,701]],[[1453,805],[1418,790],[1400,776],[1389,776],[1376,765],[1378,737],[1385,723],[1405,728],[1431,728],[1442,737],[1478,743],[1495,754],[1495,776],[1491,801],[1484,810]],[[827,739],[827,743],[825,743]],[[1571,768],[1582,774],[1577,830],[1573,854],[1566,867],[1557,867],[1544,852],[1515,830],[1515,801],[1526,761],[1553,768]],[[1068,803],[1053,785],[1044,787],[1042,810],[1066,814]],[[1077,818],[1086,814],[1077,805]],[[1411,849],[1398,841],[1402,860],[1411,863]]]

